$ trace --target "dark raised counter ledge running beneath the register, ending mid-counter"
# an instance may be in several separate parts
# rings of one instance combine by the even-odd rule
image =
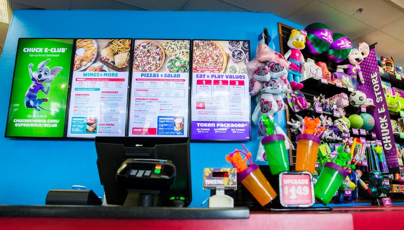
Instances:
[[[114,219],[238,219],[248,208],[171,208],[104,206],[0,206],[0,217],[63,217]]]

